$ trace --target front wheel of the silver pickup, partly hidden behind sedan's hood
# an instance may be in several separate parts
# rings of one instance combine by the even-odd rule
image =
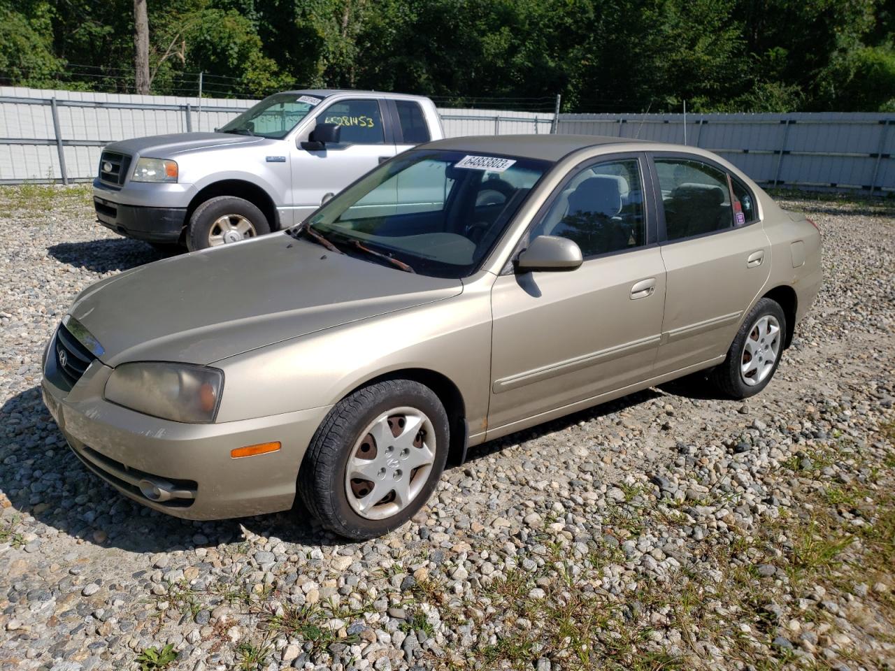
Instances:
[[[204,250],[266,233],[270,225],[259,208],[242,198],[217,196],[192,213],[186,246],[190,251]]]

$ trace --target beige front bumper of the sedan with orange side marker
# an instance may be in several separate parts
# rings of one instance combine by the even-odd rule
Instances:
[[[47,351],[55,352],[55,336]],[[55,356],[48,356],[41,385],[44,403],[81,462],[125,496],[191,520],[292,507],[304,451],[329,410],[185,424],[107,402],[103,390],[112,369],[101,361],[93,361],[70,390],[55,366]],[[236,447],[273,441],[282,445],[277,452],[230,456]],[[161,483],[176,496],[151,500],[143,493],[147,481]]]

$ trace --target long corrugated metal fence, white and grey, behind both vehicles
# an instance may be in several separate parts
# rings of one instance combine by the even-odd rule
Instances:
[[[253,100],[0,87],[0,183],[86,181],[99,150],[124,138],[210,131]],[[548,133],[554,115],[440,109],[447,137]],[[686,143],[777,186],[895,191],[895,115],[575,115],[556,132]]]

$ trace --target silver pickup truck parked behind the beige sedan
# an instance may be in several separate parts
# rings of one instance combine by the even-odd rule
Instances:
[[[200,250],[297,224],[379,163],[442,137],[429,98],[286,91],[216,132],[107,145],[93,200],[118,234]]]

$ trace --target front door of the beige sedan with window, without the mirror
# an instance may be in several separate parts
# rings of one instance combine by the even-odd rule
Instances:
[[[577,166],[551,195],[528,240],[570,238],[584,262],[495,282],[489,430],[651,377],[665,297],[651,206],[638,154]]]

